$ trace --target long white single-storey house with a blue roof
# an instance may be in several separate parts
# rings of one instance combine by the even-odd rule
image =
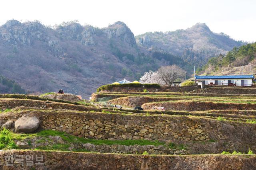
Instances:
[[[214,84],[224,86],[252,86],[253,75],[235,75],[235,76],[195,76],[196,83]]]

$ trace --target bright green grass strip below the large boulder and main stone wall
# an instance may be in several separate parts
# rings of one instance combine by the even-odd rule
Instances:
[[[30,144],[33,139],[37,139],[36,143],[46,143],[46,141],[51,143],[49,136],[60,136],[64,141],[64,144],[53,143],[52,145],[39,146],[36,149],[40,150],[66,150],[68,151],[71,145],[91,143],[94,145],[165,145],[164,142],[160,141],[149,141],[149,140],[96,140],[96,139],[85,139],[80,137],[75,137],[60,131],[43,130],[38,133],[32,134],[21,134],[13,133],[9,130],[3,129],[0,131],[0,149],[18,149],[15,141],[28,141]],[[38,140],[39,139],[39,140]],[[86,150],[76,150],[73,151],[86,151]]]

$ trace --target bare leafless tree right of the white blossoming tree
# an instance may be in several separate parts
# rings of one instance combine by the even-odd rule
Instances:
[[[165,82],[168,86],[172,86],[177,78],[182,78],[183,72],[184,71],[175,64],[171,66],[162,66],[157,71],[160,80]]]

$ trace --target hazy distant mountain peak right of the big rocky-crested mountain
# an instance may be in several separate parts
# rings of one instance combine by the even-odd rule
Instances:
[[[166,33],[147,32],[136,36],[136,42],[154,51],[166,51],[180,56],[184,61],[196,66],[202,66],[210,57],[225,54],[233,47],[244,44],[224,33],[213,33],[205,23]]]

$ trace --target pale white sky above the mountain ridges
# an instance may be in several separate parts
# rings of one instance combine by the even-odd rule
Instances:
[[[8,20],[44,25],[78,20],[107,27],[123,21],[134,35],[206,23],[235,40],[256,41],[256,0],[1,0],[0,25]]]

